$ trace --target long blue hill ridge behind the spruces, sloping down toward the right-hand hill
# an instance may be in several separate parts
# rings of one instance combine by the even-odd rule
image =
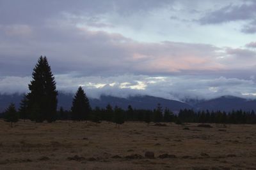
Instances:
[[[65,110],[70,110],[72,106],[73,94],[60,93],[58,95],[58,107],[62,106]],[[22,95],[0,95],[0,112],[4,111],[10,103],[15,103],[15,106],[19,108],[20,100]],[[136,96],[129,97],[127,99],[113,96],[101,96],[100,99],[89,99],[92,108],[99,106],[105,108],[107,104],[111,106],[119,106],[120,108],[127,109],[128,105],[131,104],[132,108],[136,109],[149,109],[156,108],[157,104],[160,103],[163,108],[169,108],[172,111],[179,111],[180,109],[193,108],[189,104],[182,103],[180,101],[173,101],[163,99],[161,97],[153,96]]]

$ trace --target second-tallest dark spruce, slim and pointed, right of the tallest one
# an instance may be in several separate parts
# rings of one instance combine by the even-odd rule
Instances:
[[[76,96],[73,99],[71,111],[73,120],[88,120],[91,107],[82,87],[79,87],[76,92]]]

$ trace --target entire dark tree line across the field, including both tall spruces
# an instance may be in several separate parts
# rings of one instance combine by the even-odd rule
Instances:
[[[108,104],[106,108],[96,107],[92,109],[88,97],[82,87],[77,89],[76,95],[72,101],[70,111],[63,110],[61,107],[57,111],[56,81],[51,72],[51,66],[46,57],[40,57],[33,69],[32,80],[30,81],[28,94],[20,102],[20,108],[17,111],[12,103],[6,109],[2,117],[7,122],[17,122],[19,118],[29,119],[35,122],[49,123],[56,120],[76,120],[76,121],[93,121],[114,122],[116,125],[123,124],[125,121],[136,122],[182,122],[190,123],[216,123],[216,124],[256,124],[256,116],[254,111],[245,112],[242,110],[231,111],[193,111],[180,110],[178,115],[173,114],[168,108],[161,107],[157,104],[154,110],[136,110],[131,105],[127,110],[123,110],[118,106]]]

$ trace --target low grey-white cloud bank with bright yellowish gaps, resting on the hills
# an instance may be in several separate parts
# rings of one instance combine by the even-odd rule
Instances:
[[[253,97],[254,79],[238,79],[209,76],[147,76],[124,74],[122,76],[77,76],[57,74],[57,89],[62,92],[76,92],[83,86],[92,98],[101,95],[129,97],[148,95],[166,99],[211,99],[224,95]],[[28,92],[29,77],[8,76],[0,79],[0,93]],[[22,88],[18,88],[22,87]]]

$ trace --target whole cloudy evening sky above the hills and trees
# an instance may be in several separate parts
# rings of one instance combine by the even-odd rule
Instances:
[[[46,56],[62,92],[256,98],[256,1],[0,0],[0,94]]]

